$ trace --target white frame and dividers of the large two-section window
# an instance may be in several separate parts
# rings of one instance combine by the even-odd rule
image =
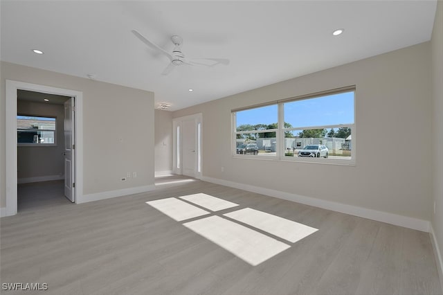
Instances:
[[[321,96],[331,96],[338,93],[354,92],[354,123],[352,124],[338,124],[338,125],[318,125],[318,126],[307,126],[307,127],[291,127],[284,128],[284,103],[292,102],[296,100],[308,100],[315,99]],[[231,130],[233,130],[233,136],[231,136],[231,147],[232,154],[234,158],[237,159],[260,159],[260,160],[273,160],[273,161],[290,161],[298,163],[322,163],[322,164],[333,164],[333,165],[344,165],[344,166],[355,166],[356,163],[356,87],[343,87],[340,89],[333,89],[330,91],[322,91],[318,93],[307,94],[304,96],[298,96],[295,98],[288,98],[284,100],[277,100],[269,102],[262,105],[255,105],[251,107],[244,107],[241,109],[231,110]],[[238,111],[246,111],[248,109],[255,109],[258,107],[264,107],[267,105],[278,105],[278,129],[266,129],[266,130],[252,130],[252,131],[242,131],[237,132],[237,122],[236,114]],[[284,132],[293,130],[304,130],[304,129],[330,129],[330,128],[340,128],[340,127],[350,127],[351,129],[351,159],[330,159],[330,158],[307,158],[307,157],[287,157],[284,151]],[[275,156],[260,156],[253,154],[237,154],[237,134],[257,134],[275,132]],[[326,137],[325,137],[326,138]]]

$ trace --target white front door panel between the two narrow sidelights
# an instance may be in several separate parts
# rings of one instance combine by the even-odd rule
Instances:
[[[197,168],[197,124],[194,118],[181,122],[183,175],[195,177]]]

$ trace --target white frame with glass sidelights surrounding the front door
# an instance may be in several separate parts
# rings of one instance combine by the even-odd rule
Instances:
[[[183,175],[183,170],[181,169],[181,159],[183,159],[182,123],[184,120],[192,119],[195,121],[195,147],[197,150],[195,178],[201,179],[203,177],[203,141],[201,139],[203,134],[203,115],[201,113],[172,119],[172,172],[177,175]],[[177,129],[180,131],[177,132]],[[179,133],[178,140],[177,133]]]

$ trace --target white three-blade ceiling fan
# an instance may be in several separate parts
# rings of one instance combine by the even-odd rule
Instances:
[[[170,73],[176,66],[181,66],[183,64],[189,66],[216,66],[217,64],[229,64],[229,60],[227,60],[226,58],[193,58],[192,60],[188,60],[181,52],[181,44],[183,44],[183,38],[177,35],[173,35],[171,37],[171,41],[174,44],[174,49],[172,50],[172,53],[169,53],[168,51],[165,51],[165,49],[151,42],[145,36],[141,35],[141,33],[138,33],[137,30],[132,30],[132,33],[134,33],[134,35],[136,35],[138,39],[141,39],[141,41],[147,46],[150,46],[154,50],[159,51],[170,59],[171,62],[163,70],[163,73],[161,73],[162,75],[168,75],[168,73]],[[199,60],[200,62],[196,62],[196,60]],[[206,64],[204,63],[204,61],[208,61],[210,62],[210,64]]]

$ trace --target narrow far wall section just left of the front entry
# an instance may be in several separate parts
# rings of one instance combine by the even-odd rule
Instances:
[[[172,112],[155,110],[155,173],[172,172]]]

